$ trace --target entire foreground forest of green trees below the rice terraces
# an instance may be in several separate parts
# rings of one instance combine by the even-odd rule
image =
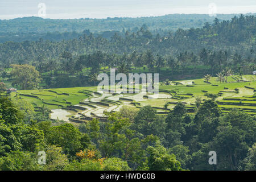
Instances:
[[[197,113],[177,104],[167,117],[151,106],[123,107],[107,122],[73,126],[47,121],[24,102],[0,98],[1,170],[255,170],[255,116],[221,114],[214,100]],[[218,154],[209,165],[208,152]],[[45,165],[38,152],[46,151]]]

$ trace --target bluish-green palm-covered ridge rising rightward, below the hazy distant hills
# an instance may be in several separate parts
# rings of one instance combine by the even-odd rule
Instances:
[[[6,63],[17,63],[23,60],[31,63],[38,56],[55,59],[64,51],[72,55],[102,51],[105,53],[131,53],[151,50],[154,55],[175,55],[179,52],[199,52],[206,48],[213,51],[227,50],[242,56],[255,51],[255,16],[234,17],[232,20],[213,24],[205,23],[203,28],[177,30],[165,36],[152,35],[147,26],[137,32],[125,32],[125,36],[117,32],[110,39],[92,34],[80,36],[78,39],[49,42],[40,39],[36,42],[5,42],[0,46],[0,60]]]

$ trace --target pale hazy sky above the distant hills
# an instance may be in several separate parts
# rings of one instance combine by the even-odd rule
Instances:
[[[218,14],[256,13],[256,0],[0,0],[0,19],[38,16],[39,3],[54,19],[208,14],[210,3]]]

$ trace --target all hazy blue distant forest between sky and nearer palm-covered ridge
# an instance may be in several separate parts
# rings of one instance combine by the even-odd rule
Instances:
[[[218,19],[229,20],[236,14],[218,14]],[[254,14],[246,14],[254,15]],[[237,15],[239,16],[239,15]],[[0,20],[0,43],[26,40],[61,41],[79,38],[83,34],[102,36],[109,39],[118,32],[125,36],[125,31],[137,32],[142,24],[148,27],[153,35],[167,35],[179,28],[201,28],[206,22],[212,22],[214,17],[200,14],[172,14],[166,16],[144,18],[107,18],[107,19],[71,19],[54,20],[38,17]]]

